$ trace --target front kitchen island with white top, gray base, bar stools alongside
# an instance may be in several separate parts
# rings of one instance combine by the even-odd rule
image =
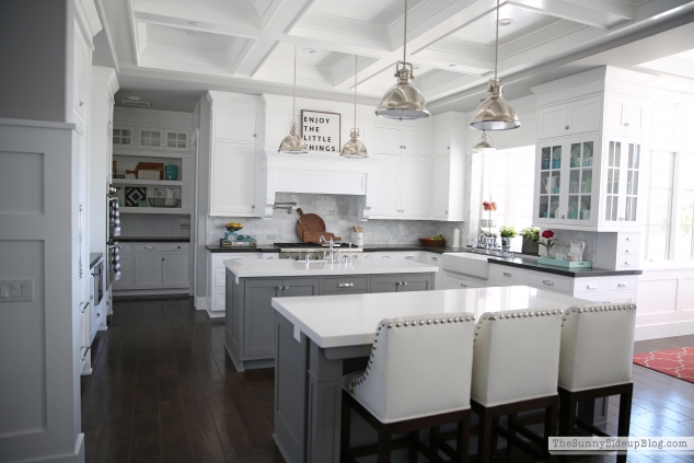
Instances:
[[[366,368],[383,319],[469,312],[478,320],[488,312],[587,303],[527,286],[274,299],[275,442],[288,463],[339,462],[343,377]],[[352,426],[359,421],[352,416]]]

